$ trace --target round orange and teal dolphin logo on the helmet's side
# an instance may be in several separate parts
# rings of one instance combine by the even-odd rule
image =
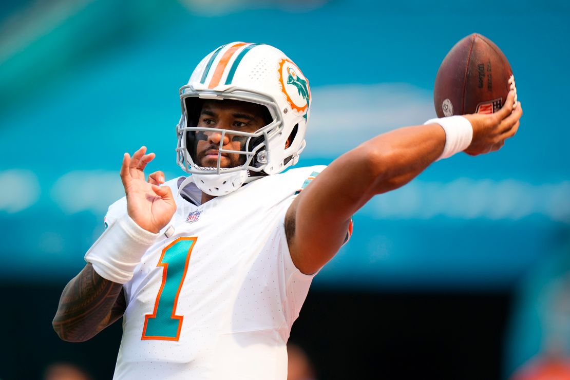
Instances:
[[[288,59],[279,62],[279,83],[287,102],[291,105],[291,111],[298,115],[304,114],[307,119],[307,109],[311,101],[309,81],[294,63]]]

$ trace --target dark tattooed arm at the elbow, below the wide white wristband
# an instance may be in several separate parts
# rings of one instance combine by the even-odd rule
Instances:
[[[91,264],[63,289],[54,329],[66,341],[86,341],[118,320],[126,308],[123,285],[105,280]]]

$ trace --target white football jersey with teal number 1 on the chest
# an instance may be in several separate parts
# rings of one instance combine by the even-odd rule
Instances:
[[[287,340],[314,275],[293,264],[284,216],[323,169],[270,175],[200,206],[177,197],[174,234],[124,285],[115,379],[286,379]],[[165,185],[176,194],[180,182]],[[193,183],[184,193],[200,199]],[[126,212],[123,198],[105,222]]]

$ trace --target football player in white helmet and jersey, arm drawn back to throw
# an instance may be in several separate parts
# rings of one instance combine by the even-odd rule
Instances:
[[[291,326],[351,216],[439,158],[499,149],[522,115],[511,92],[492,115],[393,130],[328,167],[282,173],[305,148],[312,103],[283,52],[221,46],[180,100],[177,160],[192,175],[145,181],[154,154],[125,153],[126,197],[54,318],[63,340],[85,341],[123,317],[115,379],[285,379]]]

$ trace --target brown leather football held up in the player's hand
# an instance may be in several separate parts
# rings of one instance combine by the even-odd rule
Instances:
[[[455,44],[439,66],[433,91],[438,117],[493,113],[514,88],[511,65],[492,41],[471,34]]]

